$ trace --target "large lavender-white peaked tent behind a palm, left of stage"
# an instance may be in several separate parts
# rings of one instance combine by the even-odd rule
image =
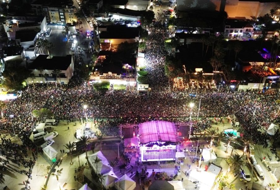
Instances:
[[[98,151],[88,157],[89,164],[93,167],[94,172],[96,172],[96,163],[94,163],[96,157],[101,160],[99,163],[97,163],[97,174],[106,174],[112,170],[112,168],[109,166],[108,160],[101,151]]]

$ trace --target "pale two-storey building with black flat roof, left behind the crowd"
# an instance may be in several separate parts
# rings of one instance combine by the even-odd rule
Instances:
[[[50,58],[50,55],[38,55],[31,61],[27,68],[31,70],[31,76],[33,76],[26,79],[30,85],[33,82],[61,82],[61,84],[67,84],[73,76],[74,62],[72,55],[54,56],[52,58]],[[59,69],[61,73],[54,73],[55,69]]]

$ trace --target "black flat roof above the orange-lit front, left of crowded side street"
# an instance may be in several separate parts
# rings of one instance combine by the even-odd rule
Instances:
[[[116,32],[118,31],[118,32]],[[100,39],[134,39],[139,37],[139,29],[125,25],[110,25],[99,34]]]

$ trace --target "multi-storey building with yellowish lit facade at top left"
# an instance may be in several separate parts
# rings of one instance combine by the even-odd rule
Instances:
[[[31,9],[37,15],[44,15],[48,23],[66,24],[77,21],[77,9],[72,1],[65,4],[60,0],[37,0],[31,3]]]

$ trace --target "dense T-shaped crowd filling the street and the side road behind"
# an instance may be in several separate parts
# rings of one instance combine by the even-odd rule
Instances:
[[[32,126],[36,122],[31,112],[43,107],[50,109],[58,120],[82,120],[86,115],[89,118],[111,118],[106,122],[99,121],[101,132],[106,135],[116,134],[121,123],[150,120],[183,122],[189,120],[191,113],[193,117],[201,118],[193,120],[194,132],[200,132],[211,126],[209,117],[235,114],[245,136],[252,136],[259,144],[266,141],[266,133],[260,129],[272,122],[279,122],[279,105],[275,102],[280,98],[278,92],[236,92],[222,87],[219,92],[217,89],[197,89],[196,95],[190,95],[189,91],[169,91],[163,67],[167,55],[164,39],[169,34],[159,23],[148,30],[149,40],[144,53],[152,87],[149,96],[137,95],[135,91],[95,91],[92,86],[84,85],[78,74],[69,85],[58,86],[58,89],[51,84],[36,84],[34,87],[30,85],[22,91],[20,97],[6,101],[0,122],[0,130],[7,131],[11,136],[16,134],[23,145],[9,144],[9,141],[2,140],[0,154],[10,157],[15,163],[30,166],[32,170],[32,164],[28,164],[32,163],[32,160],[25,160],[26,150],[37,154],[36,146],[29,139]],[[189,106],[191,102],[195,105],[193,108]],[[86,109],[84,105],[88,105]],[[10,152],[7,149],[10,149]],[[9,158],[4,162],[8,160]]]

